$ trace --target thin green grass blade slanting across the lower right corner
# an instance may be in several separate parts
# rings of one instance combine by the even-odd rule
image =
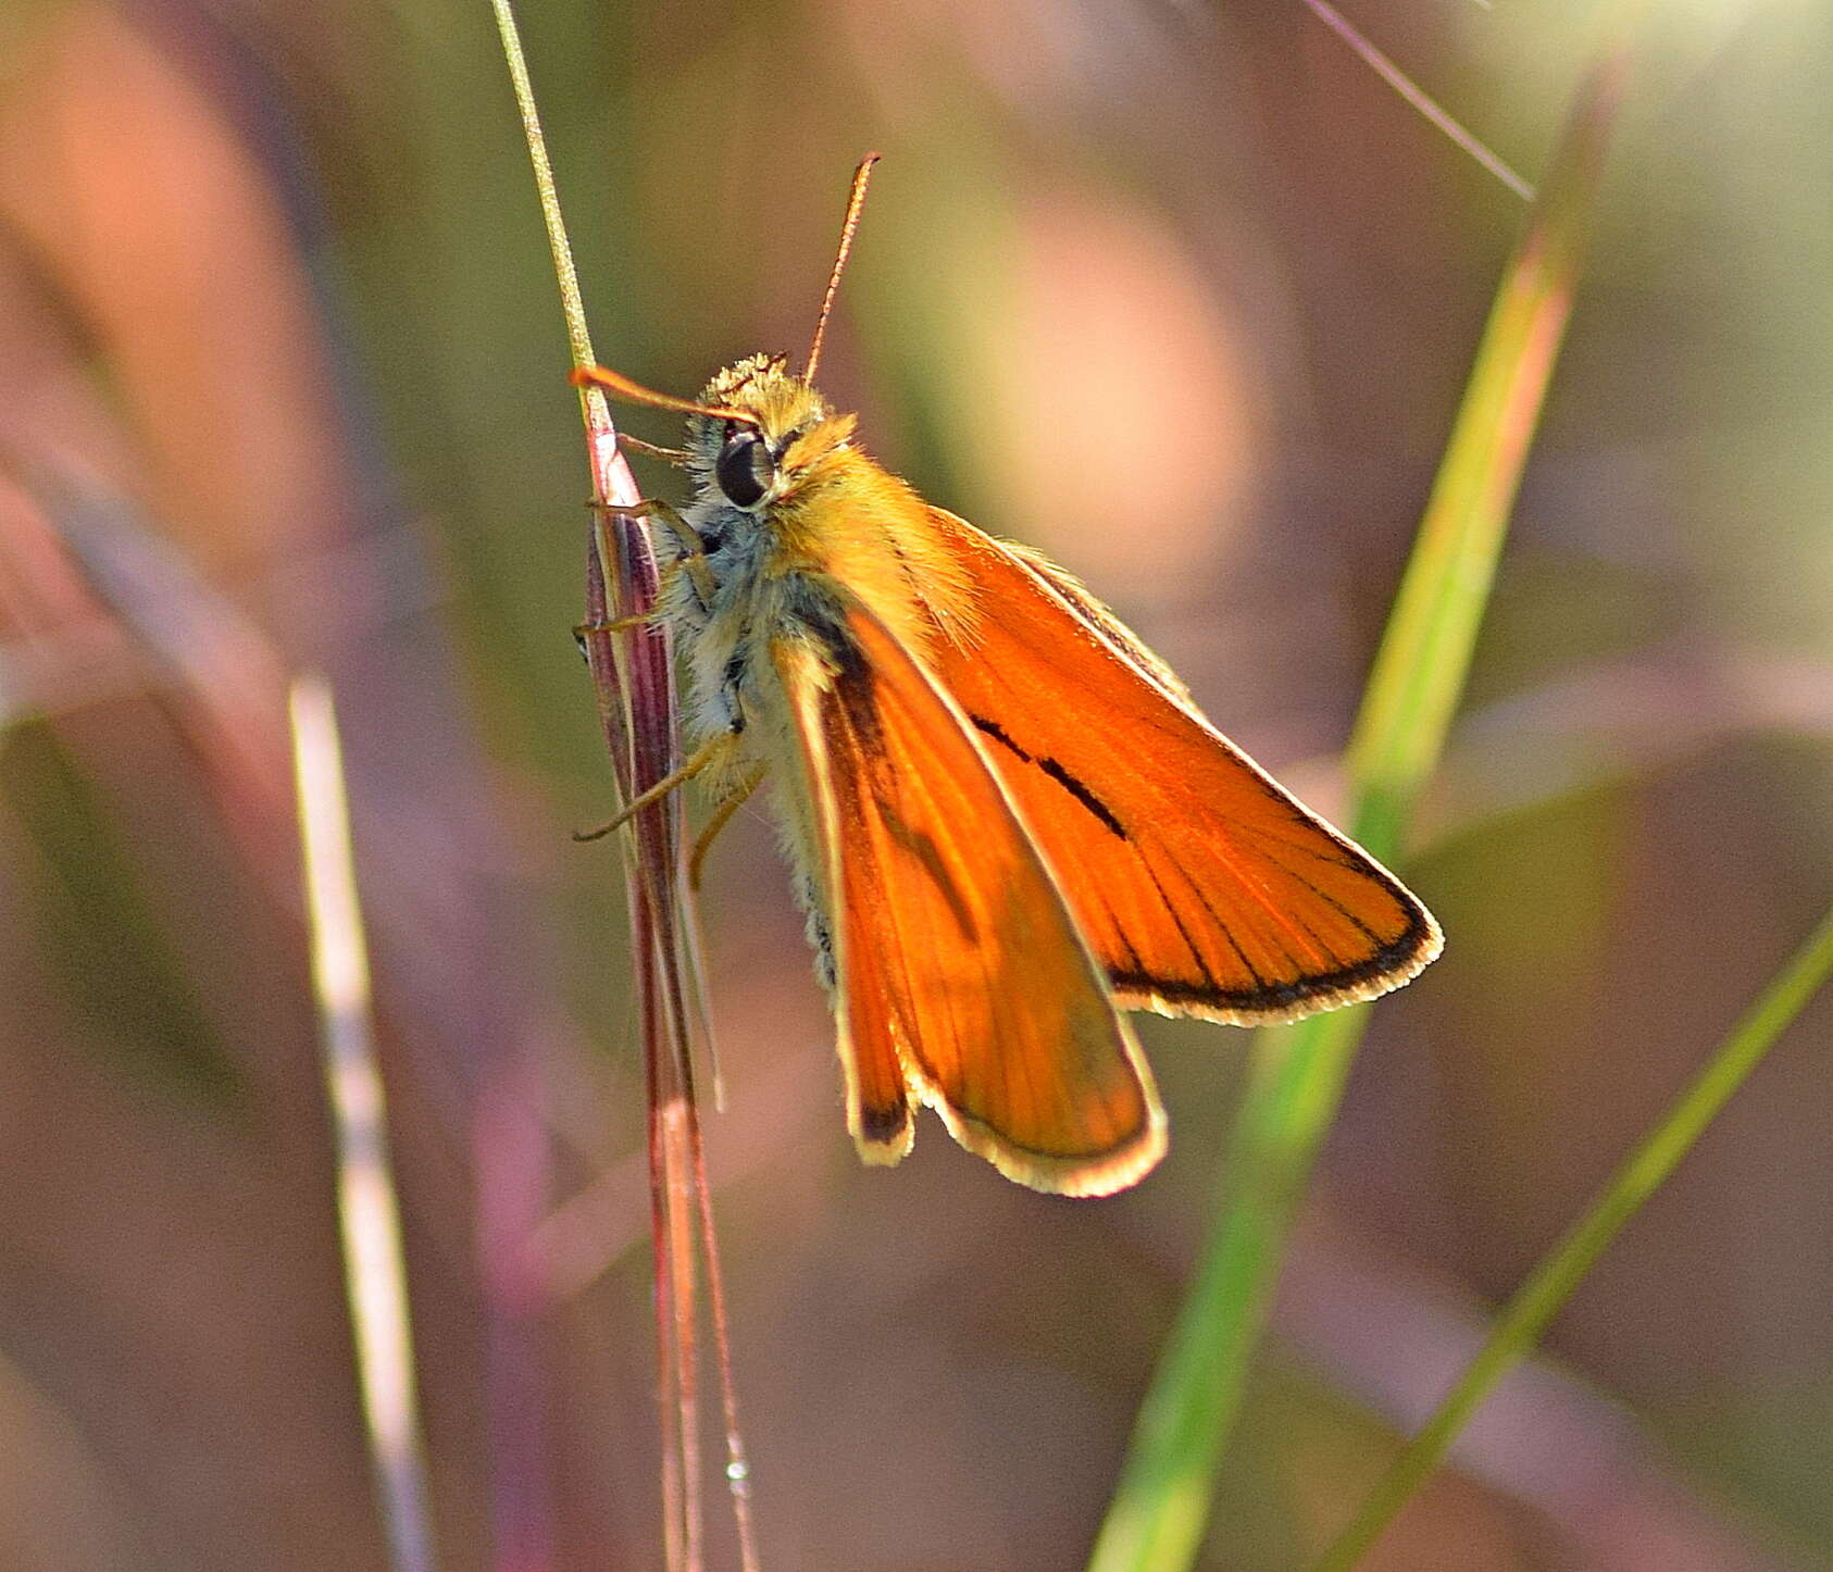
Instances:
[[[1833,911],[1820,920],[1820,927],[1778,973],[1763,997],[1751,1006],[1749,1015],[1675,1099],[1666,1118],[1611,1174],[1586,1215],[1534,1268],[1496,1319],[1496,1328],[1476,1359],[1457,1378],[1437,1413],[1402,1447],[1360,1512],[1316,1563],[1316,1572],[1347,1572],[1362,1559],[1413,1491],[1443,1462],[1452,1438],[1477,1411],[1490,1387],[1540,1341],[1547,1323],[1573,1295],[1604,1248],[1692,1151],[1694,1141],[1763,1061],[1829,973],[1833,973]]]

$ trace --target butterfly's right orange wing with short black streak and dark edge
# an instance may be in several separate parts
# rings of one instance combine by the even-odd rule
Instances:
[[[971,632],[937,639],[937,680],[1122,1004],[1294,1021],[1399,988],[1439,953],[1400,881],[1217,733],[1074,579],[929,517],[975,588]]]

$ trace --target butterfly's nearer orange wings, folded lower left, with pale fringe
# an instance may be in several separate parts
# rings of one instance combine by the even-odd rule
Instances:
[[[1164,1114],[1056,879],[960,713],[885,627],[854,606],[829,643],[779,641],[772,658],[825,854],[860,1152],[909,1151],[915,1094],[1019,1184],[1133,1184],[1164,1152]]]

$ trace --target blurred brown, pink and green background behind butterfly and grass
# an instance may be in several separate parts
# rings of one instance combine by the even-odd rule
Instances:
[[[1514,196],[1296,0],[526,13],[603,359],[691,394],[801,354],[880,148],[829,392],[1334,804]],[[1355,16],[1529,176],[1595,48],[1576,0]],[[1811,0],[1644,29],[1408,863],[1450,945],[1364,1046],[1208,1568],[1320,1548],[1826,901],[1829,81]],[[565,366],[482,0],[0,11],[5,1568],[385,1567],[302,665],[346,727],[444,1565],[660,1565],[621,889],[568,841],[610,788]],[[763,806],[706,929],[766,1567],[1080,1565],[1246,1037],[1142,1019],[1173,1147],[1120,1198],[1003,1184],[933,1119],[863,1171]],[[1820,1000],[1367,1565],[1833,1565],[1829,1026]]]

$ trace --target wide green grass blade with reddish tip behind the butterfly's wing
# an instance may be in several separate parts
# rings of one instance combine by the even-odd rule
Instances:
[[[1571,311],[1620,95],[1622,53],[1580,88],[1505,269],[1349,744],[1351,834],[1391,859],[1444,748],[1509,509]],[[1177,1572],[1208,1521],[1248,1359],[1367,1010],[1259,1032],[1217,1222],[1151,1391],[1089,1572]]]

